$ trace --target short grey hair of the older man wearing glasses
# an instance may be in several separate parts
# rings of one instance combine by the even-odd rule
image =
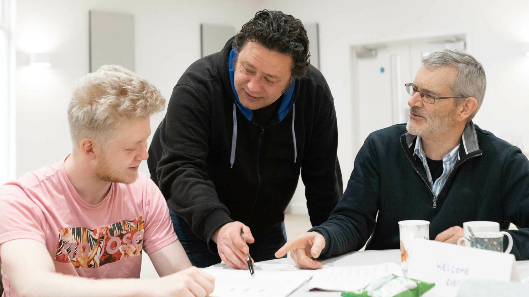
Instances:
[[[428,69],[440,67],[457,68],[455,81],[450,86],[454,96],[474,97],[478,101],[476,110],[467,119],[467,122],[470,122],[483,103],[485,88],[487,87],[485,69],[483,69],[481,63],[470,54],[461,50],[443,49],[424,57],[423,66]]]

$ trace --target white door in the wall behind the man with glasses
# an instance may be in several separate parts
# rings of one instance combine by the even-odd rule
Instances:
[[[459,42],[464,47],[464,42]],[[369,45],[367,47],[370,47]],[[373,58],[358,58],[353,67],[357,67],[358,83],[356,119],[353,125],[355,150],[358,152],[363,141],[373,131],[394,124],[406,123],[409,116],[407,101],[409,95],[405,83],[413,82],[415,73],[421,67],[423,55],[427,55],[453,44],[443,42],[411,41],[376,45],[377,54]],[[364,46],[355,47],[362,49]],[[357,50],[358,51],[358,50]],[[353,90],[354,91],[354,90]]]

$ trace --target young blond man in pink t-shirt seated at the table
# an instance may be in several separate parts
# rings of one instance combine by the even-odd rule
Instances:
[[[164,106],[156,87],[120,66],[80,80],[68,107],[73,152],[0,188],[4,297],[213,291],[213,277],[191,267],[159,189],[138,173],[149,117]],[[143,250],[160,279],[138,280]]]

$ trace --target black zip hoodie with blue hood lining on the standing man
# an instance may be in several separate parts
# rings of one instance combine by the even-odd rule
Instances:
[[[259,125],[231,86],[232,42],[178,80],[147,161],[169,207],[214,253],[211,237],[227,222],[243,222],[253,236],[281,224],[300,172],[313,226],[329,217],[343,189],[333,98],[320,71],[309,66],[287,106]]]

